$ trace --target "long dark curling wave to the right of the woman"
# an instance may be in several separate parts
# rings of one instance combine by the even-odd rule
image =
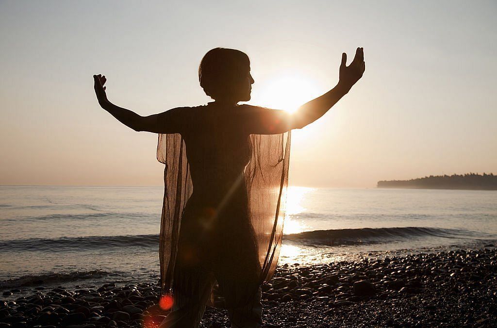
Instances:
[[[391,243],[396,240],[414,239],[419,237],[470,238],[477,236],[476,233],[467,230],[402,227],[316,230],[285,235],[283,240],[285,242],[299,243],[307,246],[345,246]]]

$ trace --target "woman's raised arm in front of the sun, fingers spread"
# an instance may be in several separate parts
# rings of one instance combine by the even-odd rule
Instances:
[[[293,114],[268,108],[255,110],[254,119],[248,120],[250,133],[278,134],[292,129],[301,129],[323,116],[362,77],[365,70],[362,48],[357,48],[354,60],[349,66],[346,66],[346,62],[347,55],[343,53],[339,81],[335,87],[322,96],[300,106]]]

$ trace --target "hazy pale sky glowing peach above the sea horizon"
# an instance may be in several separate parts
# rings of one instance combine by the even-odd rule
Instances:
[[[157,135],[101,109],[92,75],[141,115],[205,104],[214,47],[246,52],[249,103],[275,107],[326,92],[341,53],[364,48],[363,79],[293,134],[291,185],[497,173],[496,15],[495,1],[0,1],[0,184],[162,185]]]

